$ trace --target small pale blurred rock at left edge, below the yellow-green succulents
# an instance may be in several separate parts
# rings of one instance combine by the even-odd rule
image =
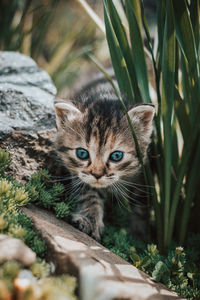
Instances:
[[[31,266],[36,254],[21,240],[0,234],[0,261],[17,260],[23,266]]]

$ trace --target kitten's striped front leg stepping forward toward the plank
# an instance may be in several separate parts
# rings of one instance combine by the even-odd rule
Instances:
[[[77,211],[72,215],[72,223],[80,231],[100,240],[104,228],[103,199],[97,191],[86,191],[79,197]]]

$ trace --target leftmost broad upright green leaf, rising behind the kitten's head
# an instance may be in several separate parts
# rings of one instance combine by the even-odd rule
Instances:
[[[130,76],[127,69],[127,64],[120,49],[119,42],[115,35],[110,16],[108,11],[107,0],[103,0],[104,4],[104,20],[106,26],[106,35],[108,46],[110,49],[110,55],[112,65],[115,71],[116,79],[119,84],[120,91],[123,95],[126,95],[128,99],[134,103],[134,91],[132,89]]]

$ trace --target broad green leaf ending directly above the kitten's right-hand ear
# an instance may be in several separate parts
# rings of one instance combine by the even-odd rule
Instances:
[[[141,34],[141,12],[139,0],[126,0],[126,14],[129,22],[130,40],[136,76],[144,102],[151,102],[149,82],[144,53],[144,43]]]

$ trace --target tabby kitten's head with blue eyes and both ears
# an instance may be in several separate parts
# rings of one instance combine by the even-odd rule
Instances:
[[[81,181],[105,188],[140,169],[127,118],[119,102],[97,101],[86,109],[71,102],[55,105],[56,148],[69,171]],[[128,111],[140,149],[146,156],[155,109],[139,105]]]

